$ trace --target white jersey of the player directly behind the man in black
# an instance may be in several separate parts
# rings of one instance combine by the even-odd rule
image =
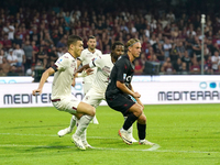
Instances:
[[[109,76],[113,67],[110,54],[99,56],[89,63],[91,68],[97,67],[96,78],[92,82],[92,88],[105,92],[108,86]]]

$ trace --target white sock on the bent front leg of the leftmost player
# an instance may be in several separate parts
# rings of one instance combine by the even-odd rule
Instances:
[[[91,116],[82,116],[79,120],[79,124],[76,129],[75,134],[80,136],[82,134],[82,132],[88,128],[89,122],[94,119],[94,117]]]

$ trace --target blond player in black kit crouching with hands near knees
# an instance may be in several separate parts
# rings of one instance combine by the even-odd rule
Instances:
[[[132,139],[128,133],[130,127],[138,121],[139,143],[154,145],[145,140],[146,117],[143,112],[144,106],[140,100],[141,95],[133,90],[131,80],[134,74],[133,61],[140,56],[141,43],[138,38],[131,38],[127,43],[128,54],[119,57],[114,64],[106,90],[106,100],[110,108],[128,116],[123,127],[119,130],[119,135],[127,144],[132,144]],[[133,101],[133,97],[136,101]]]

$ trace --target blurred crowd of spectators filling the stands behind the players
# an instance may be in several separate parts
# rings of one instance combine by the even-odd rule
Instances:
[[[0,76],[29,76],[67,52],[67,37],[96,36],[110,53],[114,41],[141,40],[136,75],[220,73],[217,0],[7,0],[0,6]],[[201,14],[206,14],[205,35]],[[151,67],[148,67],[151,65]],[[150,70],[154,69],[154,70]]]

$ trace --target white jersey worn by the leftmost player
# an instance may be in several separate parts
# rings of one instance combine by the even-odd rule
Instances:
[[[69,53],[59,57],[55,65],[57,72],[54,74],[52,85],[52,99],[62,99],[72,96],[72,82],[77,70],[77,59]]]

